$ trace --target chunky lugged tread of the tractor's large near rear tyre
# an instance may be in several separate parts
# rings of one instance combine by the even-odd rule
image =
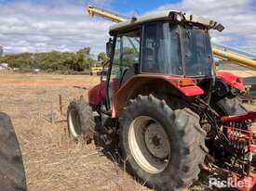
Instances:
[[[177,103],[176,103],[177,105]],[[178,128],[179,132],[179,142],[182,144],[185,150],[189,152],[181,152],[182,158],[180,165],[176,168],[175,183],[171,180],[172,177],[167,175],[158,180],[158,185],[151,182],[151,180],[146,180],[145,177],[140,177],[138,174],[141,170],[132,169],[131,165],[128,164],[128,171],[135,174],[142,182],[148,181],[147,185],[156,188],[156,190],[181,190],[184,187],[192,185],[195,180],[198,179],[198,174],[200,172],[200,167],[204,164],[204,159],[206,157],[208,149],[205,146],[205,136],[206,132],[200,127],[199,117],[189,108],[184,108],[178,103],[178,109],[170,108],[165,100],[159,100],[153,95],[141,96],[130,100],[128,106],[122,113],[122,121],[120,121],[120,146],[123,152],[123,156],[127,156],[126,148],[124,146],[125,136],[122,132],[125,131],[127,123],[130,120],[130,114],[136,110],[142,108],[152,108],[155,109],[154,112],[163,114],[170,121],[174,121],[175,126]],[[182,108],[182,109],[181,109]],[[190,128],[188,128],[190,124]],[[191,125],[193,124],[193,125]],[[140,172],[138,172],[140,171]]]

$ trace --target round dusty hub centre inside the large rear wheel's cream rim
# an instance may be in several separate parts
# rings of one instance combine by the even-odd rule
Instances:
[[[159,159],[168,158],[168,137],[158,124],[150,124],[145,131],[145,143],[150,153]]]

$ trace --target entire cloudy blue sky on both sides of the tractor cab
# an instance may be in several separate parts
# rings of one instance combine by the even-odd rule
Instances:
[[[76,51],[91,46],[104,51],[112,22],[89,18],[85,6],[94,4],[132,16],[163,9],[179,9],[217,20],[222,33],[212,41],[256,54],[255,0],[0,0],[0,45],[7,53]]]

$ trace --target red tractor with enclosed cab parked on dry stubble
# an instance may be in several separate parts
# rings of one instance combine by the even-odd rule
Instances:
[[[242,80],[215,71],[211,29],[223,27],[176,11],[111,27],[101,83],[88,91],[89,106],[74,100],[68,110],[74,138],[94,133],[115,143],[129,172],[156,190],[192,185],[208,162],[249,180],[240,190],[252,189],[256,114],[238,97]]]

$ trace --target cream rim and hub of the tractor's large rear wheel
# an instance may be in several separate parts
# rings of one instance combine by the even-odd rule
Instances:
[[[154,119],[141,116],[131,122],[128,146],[141,169],[163,172],[169,163],[170,145],[165,129]]]

